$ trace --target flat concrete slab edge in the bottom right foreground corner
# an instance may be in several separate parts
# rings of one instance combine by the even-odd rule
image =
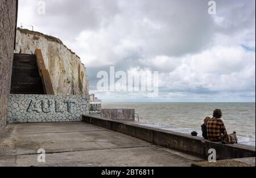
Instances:
[[[192,167],[255,167],[254,158],[219,160],[216,163],[197,162]]]

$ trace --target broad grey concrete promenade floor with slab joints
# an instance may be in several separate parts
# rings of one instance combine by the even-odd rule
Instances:
[[[191,166],[200,158],[82,122],[7,125],[0,166]],[[47,152],[38,163],[37,150]]]

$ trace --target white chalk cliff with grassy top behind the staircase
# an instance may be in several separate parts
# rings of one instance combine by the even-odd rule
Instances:
[[[55,94],[89,94],[89,78],[79,56],[55,37],[18,28],[15,53],[34,54],[36,48],[42,50]]]

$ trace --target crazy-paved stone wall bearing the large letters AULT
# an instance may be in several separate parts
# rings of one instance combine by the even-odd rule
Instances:
[[[81,121],[89,114],[89,96],[10,94],[8,123]]]

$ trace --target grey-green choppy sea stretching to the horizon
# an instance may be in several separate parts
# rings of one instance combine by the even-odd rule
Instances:
[[[135,109],[139,125],[201,136],[205,117],[212,117],[213,110],[221,109],[226,130],[237,132],[238,142],[255,146],[255,102],[251,103],[102,103],[102,109]]]

